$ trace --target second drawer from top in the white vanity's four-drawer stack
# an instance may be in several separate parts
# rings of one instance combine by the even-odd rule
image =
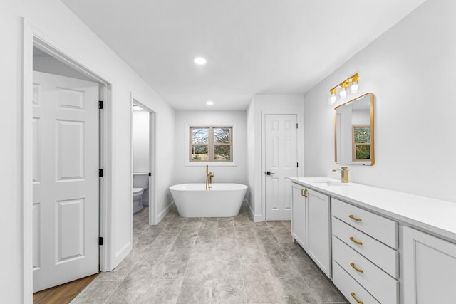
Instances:
[[[337,236],[338,239],[346,243],[348,246],[353,248],[361,255],[368,258],[368,260],[375,263],[378,267],[393,276],[399,278],[399,253],[393,248],[385,246],[376,239],[373,239],[367,234],[358,229],[354,229],[352,226],[347,225],[343,221],[332,217],[332,233],[333,236]],[[352,241],[353,239],[353,241]],[[361,244],[357,244],[362,243]],[[333,255],[336,251],[333,248]]]

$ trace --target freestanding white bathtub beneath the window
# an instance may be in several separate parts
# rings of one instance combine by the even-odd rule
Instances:
[[[244,184],[176,184],[170,187],[177,211],[183,217],[229,217],[239,214]]]

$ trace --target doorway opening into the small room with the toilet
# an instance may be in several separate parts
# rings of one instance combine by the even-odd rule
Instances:
[[[135,98],[132,100],[132,216],[146,209],[149,225],[155,215],[155,112]]]

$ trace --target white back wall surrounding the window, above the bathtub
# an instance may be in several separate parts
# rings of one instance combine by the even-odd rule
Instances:
[[[245,111],[176,111],[175,158],[173,174],[175,184],[206,182],[206,164],[186,166],[185,133],[187,125],[237,125],[237,165],[217,166],[209,163],[214,173],[212,182],[247,184],[247,125]]]

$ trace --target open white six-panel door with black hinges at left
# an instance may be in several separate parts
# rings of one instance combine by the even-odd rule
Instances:
[[[98,272],[98,83],[33,72],[33,292]]]

